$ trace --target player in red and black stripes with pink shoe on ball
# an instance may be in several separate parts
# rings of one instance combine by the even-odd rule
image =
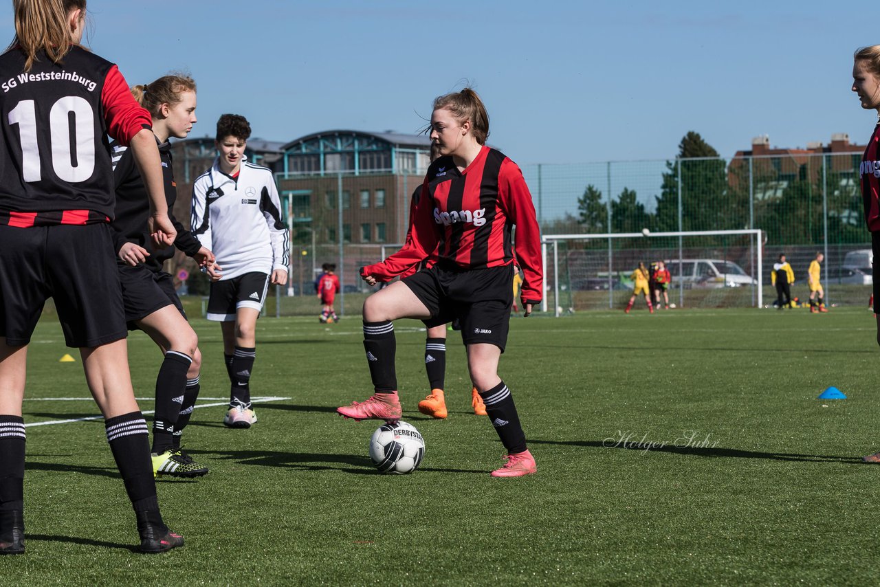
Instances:
[[[488,127],[486,108],[470,88],[434,101],[430,137],[440,158],[429,166],[407,242],[383,262],[362,268],[361,275],[372,285],[434,254],[436,263],[367,298],[363,345],[375,393],[338,412],[355,420],[399,419],[392,320],[438,325],[458,318],[473,384],[508,451],[507,463],[492,474],[518,477],[537,467],[510,389],[498,377],[498,360],[507,343],[514,257],[525,275],[526,316],[541,300],[543,268],[532,195],[519,167],[486,146]]]

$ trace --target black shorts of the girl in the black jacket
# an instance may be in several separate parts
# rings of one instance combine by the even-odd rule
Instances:
[[[122,303],[125,305],[125,321],[128,330],[137,330],[136,320],[144,319],[166,305],[174,305],[180,314],[187,318],[174,289],[174,278],[165,271],[138,265],[118,265],[119,282],[122,286]]]

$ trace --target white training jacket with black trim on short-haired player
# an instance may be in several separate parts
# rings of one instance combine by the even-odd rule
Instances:
[[[220,281],[287,271],[290,241],[272,172],[243,158],[236,181],[220,171],[219,160],[193,184],[191,224],[194,237],[223,268]]]

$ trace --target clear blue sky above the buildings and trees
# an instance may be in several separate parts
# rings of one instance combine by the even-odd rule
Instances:
[[[490,143],[518,163],[674,156],[696,130],[730,157],[864,143],[876,114],[849,91],[855,48],[880,43],[868,4],[89,0],[89,44],[129,84],[188,70],[194,136],[244,114],[254,136],[415,132],[470,80]],[[11,3],[0,15],[11,39]]]

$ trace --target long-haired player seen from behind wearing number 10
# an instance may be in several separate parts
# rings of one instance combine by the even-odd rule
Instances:
[[[106,419],[141,550],[163,552],[183,539],[159,513],[149,433],[128,372],[107,224],[114,214],[110,135],[130,145],[141,168],[152,238],[170,245],[176,235],[150,114],[113,63],[80,46],[85,0],[12,5],[17,34],[0,55],[0,554],[25,550],[21,407],[27,346],[48,297],[55,300],[67,345],[80,349],[86,381]]]

